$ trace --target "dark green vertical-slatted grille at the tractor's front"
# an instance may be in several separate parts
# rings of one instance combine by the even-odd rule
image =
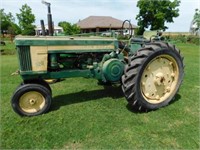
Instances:
[[[30,46],[18,46],[17,47],[20,70],[21,71],[31,71],[31,56],[30,56]]]

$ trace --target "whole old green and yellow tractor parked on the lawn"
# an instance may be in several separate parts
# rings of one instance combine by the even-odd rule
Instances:
[[[120,83],[128,104],[138,111],[166,106],[181,85],[184,65],[180,51],[161,37],[127,43],[114,37],[16,37],[23,82],[12,96],[12,108],[22,116],[47,112],[52,101],[47,81],[72,77]]]

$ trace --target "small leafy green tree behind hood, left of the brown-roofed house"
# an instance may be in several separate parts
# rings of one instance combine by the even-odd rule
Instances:
[[[58,23],[58,26],[62,27],[65,35],[73,35],[80,33],[80,28],[76,24],[71,24],[66,21]]]

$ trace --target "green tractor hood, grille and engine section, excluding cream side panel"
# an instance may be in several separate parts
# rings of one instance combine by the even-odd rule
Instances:
[[[20,74],[24,80],[86,77],[116,82],[123,74],[123,56],[116,52],[118,41],[114,38],[17,37],[15,43]],[[47,71],[32,71],[31,46],[58,46],[59,49],[48,50]],[[63,49],[59,46],[63,46]],[[87,46],[88,49],[78,49],[78,46]],[[102,49],[98,49],[98,46]]]

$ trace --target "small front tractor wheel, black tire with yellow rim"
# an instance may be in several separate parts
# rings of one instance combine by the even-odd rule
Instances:
[[[36,116],[49,110],[51,99],[51,93],[45,86],[23,84],[13,94],[11,104],[21,116]]]

